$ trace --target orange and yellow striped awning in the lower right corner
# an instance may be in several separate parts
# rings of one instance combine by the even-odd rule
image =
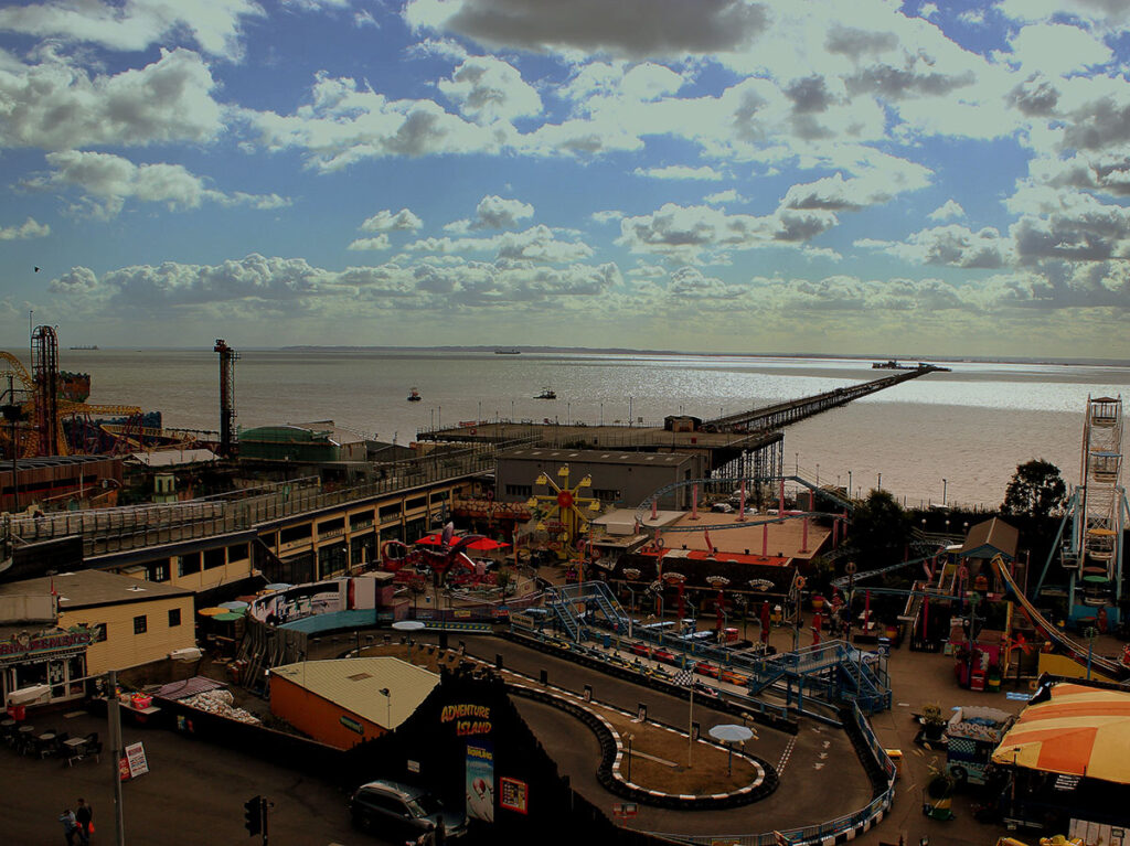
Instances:
[[[1052,684],[993,751],[993,764],[1130,784],[1130,692]]]

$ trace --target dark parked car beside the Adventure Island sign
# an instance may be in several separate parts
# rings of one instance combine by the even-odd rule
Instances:
[[[417,840],[443,822],[447,839],[467,834],[467,817],[444,809],[423,787],[379,779],[363,784],[349,799],[349,813],[358,828],[388,839]]]

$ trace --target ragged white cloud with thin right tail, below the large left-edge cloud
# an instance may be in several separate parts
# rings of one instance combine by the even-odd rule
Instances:
[[[108,152],[78,150],[49,152],[45,158],[51,172],[27,184],[41,190],[78,187],[89,211],[104,219],[118,215],[129,199],[162,202],[171,210],[195,209],[205,202],[260,210],[290,203],[278,194],[225,193],[210,189],[206,180],[181,165],[134,165]]]

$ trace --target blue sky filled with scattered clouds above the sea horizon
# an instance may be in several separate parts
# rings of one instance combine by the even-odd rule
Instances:
[[[1128,61],[1127,0],[9,2],[0,342],[1130,359]]]

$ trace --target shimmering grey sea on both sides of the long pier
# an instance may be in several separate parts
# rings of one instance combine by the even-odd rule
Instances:
[[[408,443],[420,428],[503,418],[661,421],[714,417],[884,375],[869,361],[699,356],[243,351],[236,365],[243,427],[333,420]],[[141,405],[174,427],[217,429],[211,351],[62,350],[92,374],[90,402]],[[948,364],[948,363],[939,363]],[[909,504],[999,504],[1016,465],[1055,463],[1078,481],[1087,395],[1130,398],[1130,368],[949,365],[785,430],[785,464],[808,478],[883,487]],[[406,401],[418,387],[423,402]],[[556,401],[536,400],[542,387]],[[944,486],[942,479],[947,479]]]

